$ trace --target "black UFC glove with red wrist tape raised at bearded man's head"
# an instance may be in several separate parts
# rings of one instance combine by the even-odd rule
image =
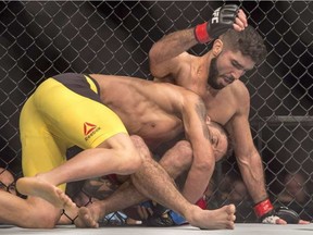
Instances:
[[[233,28],[239,7],[226,4],[216,9],[209,22],[195,27],[195,37],[200,44],[217,38],[227,29]]]

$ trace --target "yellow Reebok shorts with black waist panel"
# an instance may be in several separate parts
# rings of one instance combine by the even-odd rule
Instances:
[[[25,176],[62,164],[70,147],[95,148],[127,133],[121,119],[101,103],[98,90],[98,84],[82,74],[61,74],[40,84],[20,118]]]

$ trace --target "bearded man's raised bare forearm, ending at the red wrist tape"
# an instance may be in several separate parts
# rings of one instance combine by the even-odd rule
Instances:
[[[197,45],[193,32],[193,28],[174,32],[156,41],[149,51],[150,63],[167,61]]]

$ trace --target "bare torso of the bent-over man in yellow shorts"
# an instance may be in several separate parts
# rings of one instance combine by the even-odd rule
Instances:
[[[135,77],[90,76],[100,86],[102,102],[120,115],[130,135],[140,135],[150,147],[170,140],[184,131],[184,88]]]

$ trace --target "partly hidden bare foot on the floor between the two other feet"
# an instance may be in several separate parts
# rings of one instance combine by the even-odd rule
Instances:
[[[82,207],[78,210],[78,217],[74,221],[76,227],[99,227],[99,217],[93,213],[91,208]]]

